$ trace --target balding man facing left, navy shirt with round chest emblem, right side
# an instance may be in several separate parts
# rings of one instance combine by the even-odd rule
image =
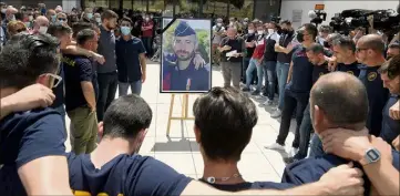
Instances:
[[[362,63],[359,79],[367,89],[369,100],[369,114],[367,128],[369,133],[379,136],[382,123],[382,110],[389,99],[389,92],[383,87],[383,82],[378,70],[384,63],[384,42],[378,34],[361,37],[356,47],[356,58]]]

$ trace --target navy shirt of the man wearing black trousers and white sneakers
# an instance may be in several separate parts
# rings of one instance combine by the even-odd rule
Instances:
[[[306,48],[296,45],[291,55],[291,81],[287,89],[295,93],[308,93],[312,87],[314,65],[308,61]]]

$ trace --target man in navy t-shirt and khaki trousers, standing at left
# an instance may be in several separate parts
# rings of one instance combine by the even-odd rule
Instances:
[[[98,33],[90,29],[84,29],[76,35],[76,44],[90,51],[98,49]],[[71,148],[75,154],[88,154],[95,148],[98,134],[93,66],[90,59],[83,55],[65,58],[72,60],[71,63],[64,63],[65,111],[71,118]]]

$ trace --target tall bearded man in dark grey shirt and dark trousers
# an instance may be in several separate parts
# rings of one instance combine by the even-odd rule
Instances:
[[[104,112],[115,99],[116,87],[119,85],[115,59],[115,34],[113,32],[116,28],[117,18],[119,16],[112,10],[105,10],[101,16],[102,24],[100,25],[101,34],[98,51],[104,56],[105,63],[98,66],[99,102],[96,112],[99,121],[103,121]]]

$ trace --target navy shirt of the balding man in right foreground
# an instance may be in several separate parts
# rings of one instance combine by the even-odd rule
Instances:
[[[399,152],[392,151],[393,166],[399,171]],[[318,182],[321,176],[329,169],[337,167],[342,164],[348,164],[350,161],[335,156],[332,154],[325,154],[315,158],[306,158],[299,162],[295,162],[286,166],[281,182],[290,183],[295,185],[304,185],[308,183]],[[362,168],[361,165],[355,163],[356,167]],[[369,196],[371,183],[367,175],[365,179],[365,195]]]

